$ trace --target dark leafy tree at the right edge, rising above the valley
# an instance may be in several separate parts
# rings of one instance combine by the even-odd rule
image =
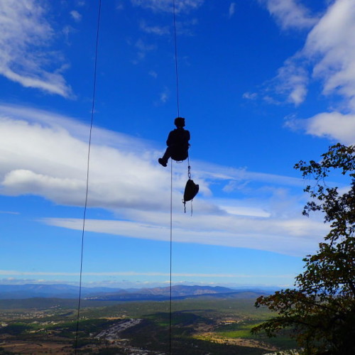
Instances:
[[[321,155],[320,163],[300,161],[295,168],[313,186],[303,214],[320,211],[330,231],[315,255],[307,256],[305,271],[295,278],[293,289],[258,297],[256,307],[266,306],[276,317],[252,329],[273,337],[281,329],[302,348],[302,354],[355,354],[355,146],[337,143]],[[349,178],[349,189],[330,187],[332,170]]]

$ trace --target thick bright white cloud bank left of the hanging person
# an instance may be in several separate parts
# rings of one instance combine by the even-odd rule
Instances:
[[[82,204],[88,137],[88,131],[84,132],[84,129],[87,127],[74,123],[79,129],[75,134],[83,139],[80,140],[63,128],[67,121],[60,116],[53,116],[52,121],[45,122],[44,117],[48,113],[32,111],[29,116],[34,120],[37,118],[37,121],[29,122],[14,119],[14,114],[27,116],[25,109],[7,109],[5,115],[0,115],[1,132],[4,134],[0,157],[1,192],[6,195],[32,193],[60,204]],[[134,138],[96,130],[91,155],[89,205],[104,207],[106,204],[112,209],[139,205],[164,208],[165,198],[161,195],[155,197],[156,186],[152,183],[160,181],[165,184],[168,174],[162,174],[158,166],[153,166],[152,158],[156,153],[147,148],[142,151],[141,142]],[[87,133],[86,137],[84,133]],[[100,136],[103,141],[95,143],[95,139],[101,139]],[[109,141],[103,143],[105,136],[120,148],[109,147]],[[127,151],[127,146],[135,148]],[[125,167],[124,172],[122,166]],[[117,184],[121,186],[120,190],[115,188]]]

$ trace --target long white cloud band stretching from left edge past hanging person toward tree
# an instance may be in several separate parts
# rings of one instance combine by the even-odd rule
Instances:
[[[57,204],[83,206],[88,126],[31,107],[0,105],[0,131],[1,195],[38,195]],[[147,141],[94,127],[88,206],[107,209],[116,219],[88,219],[87,231],[168,240],[170,170],[157,163],[162,153],[163,148],[157,151]],[[175,241],[298,256],[313,251],[327,231],[322,222],[299,217],[304,202],[289,189],[297,187],[302,194],[302,179],[200,161],[193,166],[200,192],[191,218],[182,213],[186,168],[185,163],[174,165]],[[226,187],[223,197],[214,197],[213,184]],[[234,197],[239,187],[239,194],[245,192],[248,198]],[[82,228],[80,219],[42,222]]]

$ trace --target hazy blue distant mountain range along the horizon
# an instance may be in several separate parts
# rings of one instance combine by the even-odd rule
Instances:
[[[260,295],[270,294],[271,290],[232,289],[211,286],[174,285],[171,288],[171,297],[174,300],[185,298],[256,298]],[[117,289],[117,288],[85,288],[82,287],[82,298],[85,300],[100,301],[146,301],[170,299],[170,287]],[[77,298],[79,287],[65,284],[55,285],[0,285],[0,300],[20,300],[31,297]]]

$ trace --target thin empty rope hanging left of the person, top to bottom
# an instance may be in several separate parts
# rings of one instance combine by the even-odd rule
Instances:
[[[82,299],[82,259],[84,255],[84,232],[85,232],[85,220],[87,214],[87,196],[89,195],[89,163],[90,163],[90,148],[91,148],[91,141],[92,141],[92,125],[94,123],[94,107],[95,107],[96,81],[97,81],[97,52],[98,52],[97,49],[99,47],[100,16],[101,16],[101,0],[99,0],[99,10],[97,14],[97,33],[96,33],[95,60],[94,60],[94,86],[92,89],[92,110],[91,110],[91,123],[90,123],[90,131],[89,131],[89,147],[87,149],[87,182],[86,182],[86,192],[85,192],[84,216],[82,218],[82,247],[81,247],[81,256],[80,256],[80,281],[79,281],[79,298],[77,302],[77,330],[75,334],[75,354],[77,354],[80,305]]]

